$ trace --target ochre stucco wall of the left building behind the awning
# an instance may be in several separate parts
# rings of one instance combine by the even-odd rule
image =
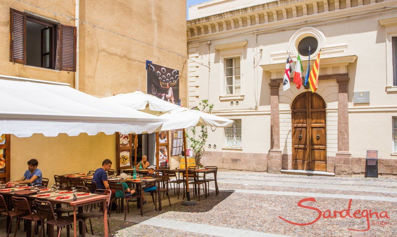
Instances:
[[[74,17],[75,1],[39,0],[29,3]],[[146,91],[146,59],[155,64],[179,70],[179,96],[186,104],[186,2],[173,1],[94,1],[80,0],[80,19],[141,42],[104,31],[90,24],[80,24],[79,90],[97,97]],[[15,0],[0,3],[0,74],[40,80],[66,82],[74,86],[73,72],[46,70],[11,63],[9,60],[10,8],[75,25],[69,17]],[[164,48],[166,50],[161,50]],[[26,162],[35,158],[43,176],[53,182],[54,174],[88,172],[100,167],[103,159],[115,161],[114,135],[60,134],[46,138],[40,134],[11,141],[11,179],[19,179],[27,169]]]

